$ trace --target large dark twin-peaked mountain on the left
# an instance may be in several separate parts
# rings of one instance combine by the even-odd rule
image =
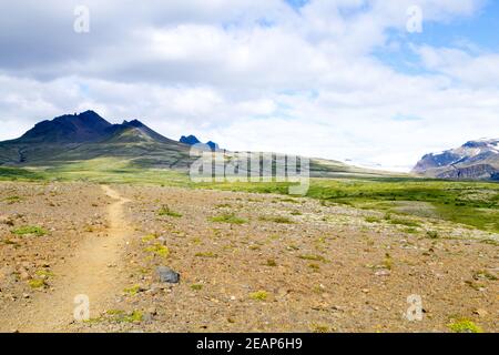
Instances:
[[[111,124],[91,110],[42,121],[22,138],[0,142],[0,165],[47,164],[102,156],[172,166],[181,158],[189,156],[189,149],[139,120]],[[186,162],[179,164],[185,165]]]

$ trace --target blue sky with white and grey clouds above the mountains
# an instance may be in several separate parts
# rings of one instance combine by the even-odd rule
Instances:
[[[0,0],[0,140],[94,110],[409,171],[499,138],[498,19],[493,0]]]

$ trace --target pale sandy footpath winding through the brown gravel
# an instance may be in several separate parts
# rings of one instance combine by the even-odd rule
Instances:
[[[102,189],[108,196],[116,200],[108,207],[106,235],[86,236],[74,251],[74,256],[59,270],[54,268],[55,277],[51,282],[54,291],[35,295],[28,307],[7,315],[1,327],[9,325],[10,331],[19,332],[64,332],[74,320],[77,295],[89,297],[90,316],[96,317],[122,293],[125,273],[122,272],[121,255],[132,234],[123,217],[123,206],[129,200],[106,185]]]

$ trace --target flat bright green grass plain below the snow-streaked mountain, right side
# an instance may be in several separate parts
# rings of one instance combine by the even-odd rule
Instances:
[[[206,189],[287,194],[285,183],[220,183]],[[410,178],[313,179],[307,197],[395,215],[461,223],[499,233],[499,184]]]

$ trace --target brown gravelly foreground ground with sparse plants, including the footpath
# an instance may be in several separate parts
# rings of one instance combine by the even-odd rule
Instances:
[[[53,182],[1,183],[0,211],[2,332],[499,331],[498,235],[441,220]]]

